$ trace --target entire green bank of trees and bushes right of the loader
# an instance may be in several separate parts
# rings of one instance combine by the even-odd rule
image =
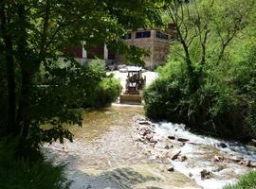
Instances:
[[[253,9],[254,1],[240,0],[169,5],[177,39],[160,77],[144,91],[150,117],[223,138],[256,137]]]

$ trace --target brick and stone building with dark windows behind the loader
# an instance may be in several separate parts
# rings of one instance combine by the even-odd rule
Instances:
[[[154,69],[158,65],[163,64],[170,54],[170,45],[175,38],[175,27],[169,26],[166,31],[160,31],[158,29],[138,29],[137,31],[128,30],[127,34],[122,37],[123,42],[127,45],[136,45],[137,47],[147,50],[150,55],[145,56],[145,68]],[[82,46],[69,47],[66,51],[73,53],[77,60],[82,64],[88,60],[94,60],[95,58],[104,60],[107,64],[126,64],[136,62],[128,62],[123,55],[119,55],[108,50],[107,46],[92,47],[89,50],[85,50]]]

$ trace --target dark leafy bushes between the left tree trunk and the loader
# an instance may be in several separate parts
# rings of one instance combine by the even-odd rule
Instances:
[[[102,61],[81,66],[77,62],[48,62],[33,84],[30,112],[27,114],[29,135],[27,147],[39,148],[42,142],[64,138],[72,141],[72,133],[63,125],[82,126],[79,109],[98,108],[115,101],[120,94],[119,81],[107,77]],[[42,126],[50,125],[49,129]]]

